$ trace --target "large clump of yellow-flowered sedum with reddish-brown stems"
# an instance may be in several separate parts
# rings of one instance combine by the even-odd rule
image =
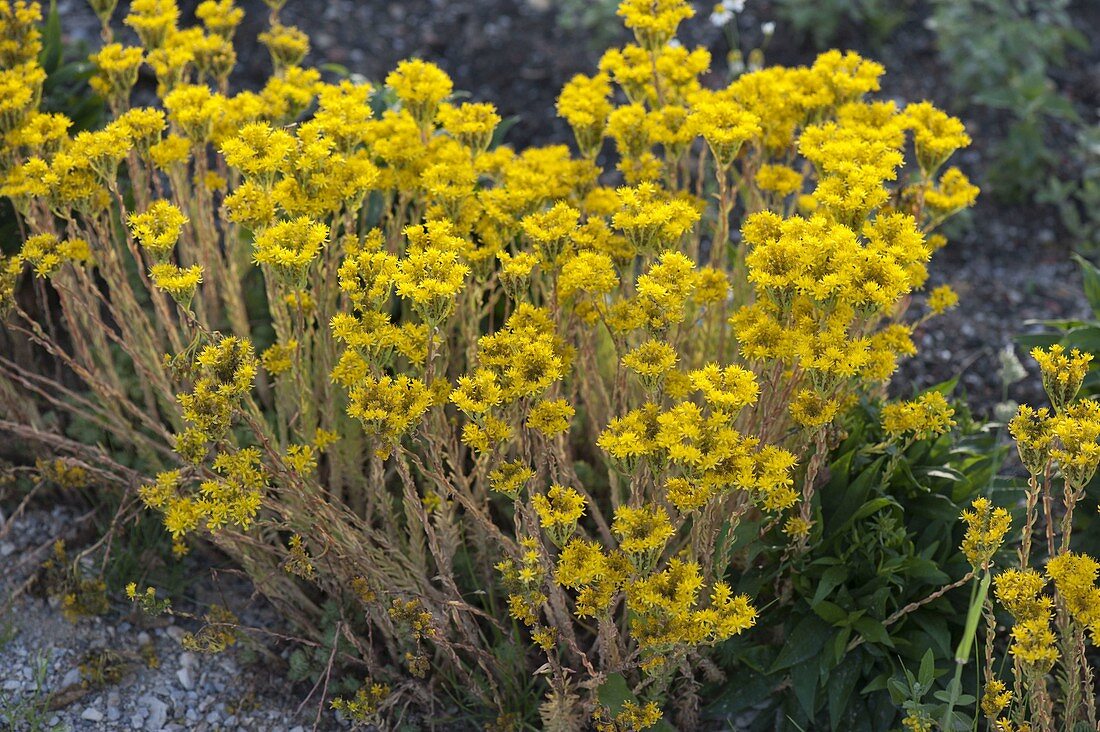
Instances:
[[[729,537],[759,522],[780,569],[822,540],[838,417],[914,351],[933,230],[977,195],[958,120],[873,100],[853,53],[704,87],[691,6],[625,0],[635,43],[559,98],[575,151],[517,151],[430,63],[322,81],[280,2],[235,94],[230,0],[138,0],[136,45],[96,4],[111,121],[69,136],[37,4],[0,3],[4,327],[36,349],[0,358],[0,430],[218,545],[365,679],[345,714],[691,726],[710,648],[767,622]]]

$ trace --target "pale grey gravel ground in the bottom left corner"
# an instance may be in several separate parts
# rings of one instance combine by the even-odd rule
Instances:
[[[8,539],[0,543],[0,561],[6,567],[0,573],[0,599],[25,579],[25,571],[16,565],[41,564],[54,539],[72,534],[76,518],[75,510],[58,506],[15,520]],[[197,604],[228,605],[248,626],[282,626],[268,607],[250,599],[246,587],[232,580],[213,584],[209,576],[201,569],[191,576],[187,594]],[[248,654],[237,649],[243,643],[218,655],[195,654],[185,651],[180,640],[195,632],[197,623],[129,611],[112,607],[106,615],[74,623],[63,616],[56,599],[19,597],[0,614],[0,728],[6,732],[314,729],[316,703],[298,709],[309,690],[295,688],[268,670],[285,658],[275,658],[274,664],[245,663]],[[119,668],[121,679],[97,685],[81,671],[81,664],[99,658]],[[326,712],[316,729],[338,725]]]

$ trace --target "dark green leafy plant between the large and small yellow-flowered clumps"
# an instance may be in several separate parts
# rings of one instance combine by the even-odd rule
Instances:
[[[1014,485],[997,477],[1007,455],[998,430],[956,408],[955,431],[904,448],[883,439],[876,405],[849,416],[815,499],[821,542],[789,559],[789,582],[749,556],[738,591],[773,593],[768,630],[722,648],[738,682],[716,692],[711,714],[755,710],[754,730],[872,731],[895,728],[906,699],[939,711],[945,684],[933,680],[954,673],[967,610],[966,582],[953,582],[969,569],[958,516]],[[735,544],[760,528],[744,523]],[[905,667],[922,670],[909,678]],[[922,702],[927,693],[935,701]]]

